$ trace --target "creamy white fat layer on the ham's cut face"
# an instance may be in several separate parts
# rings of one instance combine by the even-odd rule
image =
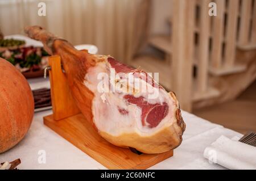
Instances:
[[[174,100],[163,89],[158,89],[159,94],[155,99],[147,99],[150,104],[166,102],[169,110],[168,114],[159,125],[155,128],[149,128],[142,125],[141,114],[142,110],[135,104],[129,104],[123,98],[127,94],[132,94],[135,97],[143,96],[147,98],[148,92],[154,92],[155,87],[152,87],[147,82],[140,81],[142,84],[146,84],[148,92],[139,91],[135,85],[135,92],[127,92],[125,86],[117,86],[115,92],[100,92],[97,87],[102,81],[98,79],[99,73],[110,74],[110,64],[107,60],[98,62],[96,66],[89,68],[86,75],[84,85],[88,87],[94,93],[94,99],[92,102],[93,121],[97,129],[102,132],[112,134],[113,136],[119,136],[123,133],[138,133],[141,136],[148,136],[149,134],[155,134],[162,128],[170,127],[174,123]],[[126,74],[128,76],[128,74]],[[134,78],[136,79],[136,78]],[[122,82],[118,77],[115,79],[115,83]],[[129,81],[129,87],[133,85],[133,81]],[[136,83],[135,83],[136,84]],[[110,87],[113,88],[113,83],[110,83]],[[118,88],[119,87],[119,88]],[[128,113],[121,114],[118,108],[128,111]]]

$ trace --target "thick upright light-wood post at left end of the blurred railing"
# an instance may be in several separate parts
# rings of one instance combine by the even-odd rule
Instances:
[[[192,64],[195,0],[173,1],[173,61],[172,90],[176,92],[181,108],[192,110]]]

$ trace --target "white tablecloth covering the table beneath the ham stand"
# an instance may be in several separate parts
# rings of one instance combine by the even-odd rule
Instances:
[[[40,45],[34,40],[27,42]],[[48,79],[29,79],[29,83],[31,89],[49,87]],[[20,158],[22,164],[19,169],[106,169],[43,124],[43,116],[51,113],[51,110],[35,113],[26,137],[13,149],[0,154],[0,163]],[[150,169],[225,169],[209,163],[203,157],[204,149],[221,135],[232,138],[241,134],[185,111],[182,111],[182,115],[187,124],[183,142],[174,150],[174,157]],[[46,163],[42,163],[40,159],[42,153],[46,153]]]

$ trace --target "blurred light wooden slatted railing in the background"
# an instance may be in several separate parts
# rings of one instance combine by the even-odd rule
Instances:
[[[255,1],[171,2],[170,32],[148,39],[163,56],[142,53],[130,64],[160,72],[160,83],[187,111],[236,98],[256,78]],[[217,16],[208,15],[210,2]]]

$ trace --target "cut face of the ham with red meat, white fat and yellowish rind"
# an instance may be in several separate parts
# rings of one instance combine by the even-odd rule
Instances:
[[[94,93],[93,122],[100,134],[114,145],[143,153],[161,153],[179,145],[185,125],[174,93],[167,93],[142,70],[109,56],[96,57],[100,61],[88,69],[84,85]]]

